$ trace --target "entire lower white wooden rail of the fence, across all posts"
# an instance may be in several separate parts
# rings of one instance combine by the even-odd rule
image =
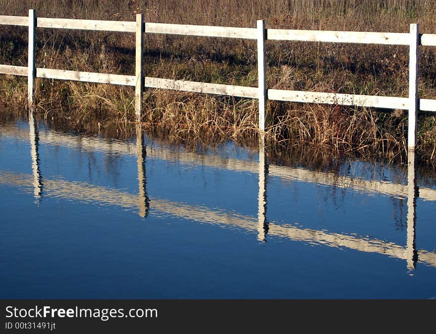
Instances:
[[[28,70],[26,66],[0,65],[0,74],[27,76]],[[82,72],[37,67],[36,76],[38,78],[73,80],[91,83],[106,83],[123,86],[136,85],[136,77],[134,75]],[[258,99],[259,96],[257,87],[224,85],[207,82],[173,80],[153,77],[144,78],[144,87],[235,96],[249,99]],[[409,108],[408,98],[405,97],[290,91],[282,89],[268,89],[267,92],[268,100],[271,101],[315,103],[383,109],[407,110]],[[419,99],[419,110],[436,111],[436,100]]]

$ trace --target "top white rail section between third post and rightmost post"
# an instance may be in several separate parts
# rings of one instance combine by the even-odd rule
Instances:
[[[268,40],[409,45],[407,33],[268,29]]]

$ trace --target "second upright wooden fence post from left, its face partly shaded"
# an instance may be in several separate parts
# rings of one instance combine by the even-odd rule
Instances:
[[[135,115],[141,121],[142,92],[144,91],[144,67],[142,61],[144,49],[144,14],[136,14],[136,65],[135,65]]]

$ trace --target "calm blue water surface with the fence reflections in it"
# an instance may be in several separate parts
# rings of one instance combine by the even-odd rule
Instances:
[[[9,122],[0,297],[436,298],[435,183]]]

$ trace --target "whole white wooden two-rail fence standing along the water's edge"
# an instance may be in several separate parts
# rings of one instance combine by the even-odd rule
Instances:
[[[258,20],[257,28],[215,27],[182,24],[144,23],[144,15],[136,15],[136,22],[98,21],[36,17],[35,9],[27,16],[1,16],[0,24],[28,26],[28,66],[1,65],[0,73],[28,77],[28,102],[33,104],[33,83],[35,77],[76,80],[84,82],[109,83],[135,87],[135,111],[139,120],[142,114],[141,101],[145,87],[172,89],[188,92],[229,95],[259,100],[259,128],[265,130],[267,100],[330,105],[404,109],[409,111],[408,147],[414,149],[417,135],[417,113],[436,111],[436,100],[418,97],[419,46],[436,46],[436,34],[420,34],[419,25],[411,24],[409,33],[381,33],[355,31],[321,31],[266,29],[265,21]],[[136,34],[135,75],[119,75],[96,72],[69,71],[35,67],[35,28],[85,29],[129,32]],[[257,40],[258,87],[222,85],[185,80],[171,80],[146,77],[143,70],[144,33],[241,38]],[[361,43],[409,46],[409,97],[372,96],[323,92],[291,91],[268,89],[266,80],[265,41],[309,41],[330,43]]]

